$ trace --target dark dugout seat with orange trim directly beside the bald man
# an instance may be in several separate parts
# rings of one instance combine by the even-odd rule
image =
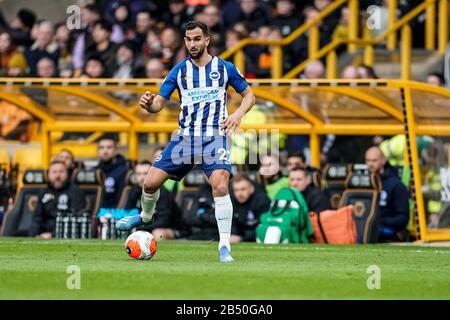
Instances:
[[[357,242],[376,243],[380,217],[380,176],[368,171],[355,171],[347,177],[345,185],[339,207],[353,205]]]

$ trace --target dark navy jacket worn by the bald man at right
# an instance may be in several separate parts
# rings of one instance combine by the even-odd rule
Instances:
[[[409,195],[398,172],[389,163],[384,167],[381,184],[380,227],[402,231],[409,221]]]

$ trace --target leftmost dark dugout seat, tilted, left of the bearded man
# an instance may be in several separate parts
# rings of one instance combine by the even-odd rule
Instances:
[[[3,236],[28,236],[39,194],[46,187],[45,170],[25,171],[23,186],[17,193],[15,205],[6,213],[1,233]]]

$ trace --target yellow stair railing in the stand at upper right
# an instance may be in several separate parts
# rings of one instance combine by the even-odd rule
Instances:
[[[438,6],[436,4],[438,3]],[[344,4],[349,7],[349,35],[346,40],[333,40],[329,44],[322,48],[319,48],[319,29],[318,24],[333,11],[339,9]],[[419,4],[417,7],[408,12],[404,17],[396,20],[397,12],[397,0],[388,1],[389,17],[388,17],[388,30],[380,34],[376,38],[372,39],[370,30],[367,27],[363,27],[363,38],[358,38],[359,27],[363,25],[359,19],[359,2],[357,0],[341,0],[334,1],[325,10],[323,10],[319,16],[312,19],[308,23],[300,26],[288,37],[282,40],[256,40],[256,39],[243,39],[235,47],[225,51],[221,57],[223,59],[229,59],[234,56],[235,65],[244,72],[245,70],[245,55],[244,48],[249,45],[268,45],[274,48],[272,53],[272,70],[271,77],[278,78],[295,78],[300,72],[303,71],[305,66],[312,60],[321,59],[326,56],[327,78],[337,78],[337,54],[336,49],[341,45],[347,45],[348,52],[353,53],[359,47],[364,49],[364,63],[369,66],[373,66],[375,62],[374,46],[381,45],[386,41],[386,48],[388,50],[395,50],[397,47],[397,32],[401,33],[401,79],[409,80],[411,77],[410,65],[411,65],[411,30],[409,23],[417,18],[422,13],[426,13],[426,25],[425,25],[425,48],[428,50],[435,49],[436,38],[436,8],[438,8],[438,52],[439,54],[445,54],[448,43],[448,0],[426,0]],[[365,24],[365,23],[364,23]],[[291,44],[296,38],[302,34],[308,32],[308,59],[301,62],[298,66],[288,71],[286,74],[282,74],[282,47]]]

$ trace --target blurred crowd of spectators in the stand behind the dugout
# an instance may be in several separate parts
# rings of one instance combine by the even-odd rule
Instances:
[[[386,1],[360,1],[361,16],[373,4],[381,8],[382,23],[374,35],[386,30]],[[420,1],[400,1],[398,16]],[[209,51],[218,55],[243,38],[281,39],[316,17],[331,0],[80,0],[80,28],[69,29],[65,20],[40,19],[42,12],[20,9],[10,19],[0,11],[0,76],[64,78],[162,78],[186,57],[183,25],[190,19],[206,23]],[[321,22],[320,46],[348,35],[348,8]],[[363,20],[362,20],[363,21]],[[412,23],[413,45],[423,47],[423,21]],[[270,47],[248,46],[244,52],[246,78],[270,77]],[[339,52],[342,52],[339,50]],[[288,71],[307,58],[308,34],[283,48],[283,69]],[[310,64],[301,77],[321,78],[324,67]],[[371,78],[362,66],[347,78]]]

